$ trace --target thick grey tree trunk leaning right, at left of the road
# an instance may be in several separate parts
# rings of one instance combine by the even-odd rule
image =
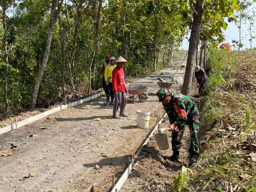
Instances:
[[[38,94],[39,86],[40,86],[40,83],[41,83],[41,80],[42,80],[42,77],[43,77],[43,74],[44,74],[44,68],[47,64],[48,57],[49,57],[54,24],[56,23],[56,20],[57,20],[57,17],[59,15],[59,13],[61,12],[61,7],[62,7],[63,0],[61,0],[59,5],[58,5],[58,2],[59,2],[59,0],[52,0],[50,27],[49,27],[49,31],[48,31],[48,35],[47,35],[47,39],[46,39],[43,61],[40,64],[39,71],[38,71],[38,74],[37,74],[37,78],[35,80],[35,86],[34,86],[34,89],[33,89],[32,98],[31,98],[31,105],[30,105],[31,109],[35,109],[35,103],[36,103],[36,100],[37,100],[37,94]],[[57,8],[57,10],[56,10],[56,8]]]

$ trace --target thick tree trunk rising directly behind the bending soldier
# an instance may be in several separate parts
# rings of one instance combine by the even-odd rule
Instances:
[[[200,24],[202,21],[202,11],[204,7],[204,0],[197,0],[194,4],[195,11],[193,14],[193,23],[189,39],[189,52],[187,56],[187,66],[185,70],[184,83],[182,86],[182,94],[190,95],[190,89],[192,84],[192,78],[194,74],[194,54],[197,49],[198,35],[200,30]]]

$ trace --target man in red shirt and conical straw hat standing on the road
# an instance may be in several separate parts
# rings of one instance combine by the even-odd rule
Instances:
[[[119,57],[116,60],[116,68],[112,72],[112,87],[115,94],[115,103],[113,109],[113,118],[117,117],[117,111],[120,106],[120,117],[127,117],[125,115],[126,96],[127,91],[125,86],[125,73],[123,71],[123,65],[127,62],[123,57]]]

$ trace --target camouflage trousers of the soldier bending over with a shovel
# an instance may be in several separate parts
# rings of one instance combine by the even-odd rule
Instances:
[[[199,131],[199,118],[198,115],[191,116],[188,118],[186,125],[189,126],[190,130],[190,147],[189,153],[199,153],[199,143],[197,133]],[[177,133],[172,133],[172,150],[173,154],[180,151],[182,146],[182,138],[185,133],[185,125]]]

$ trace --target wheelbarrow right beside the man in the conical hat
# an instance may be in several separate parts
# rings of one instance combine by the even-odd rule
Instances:
[[[145,102],[148,100],[148,94],[147,94],[148,87],[146,86],[135,86],[128,88],[129,98],[130,100],[133,99],[133,103],[136,103],[138,99],[140,102]]]

